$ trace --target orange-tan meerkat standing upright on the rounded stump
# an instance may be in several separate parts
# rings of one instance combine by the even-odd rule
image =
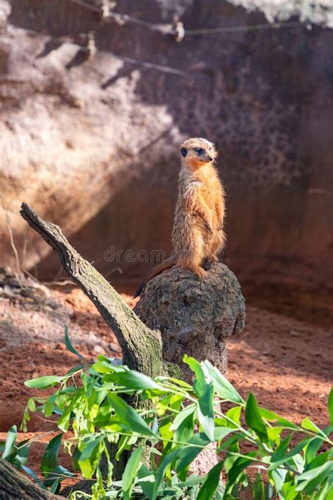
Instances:
[[[203,261],[218,260],[226,235],[223,231],[225,193],[214,167],[216,157],[214,144],[207,139],[187,139],[181,145],[181,172],[172,231],[174,252],[143,278],[134,297],[141,294],[150,279],[174,265],[190,269],[203,280],[207,276]]]

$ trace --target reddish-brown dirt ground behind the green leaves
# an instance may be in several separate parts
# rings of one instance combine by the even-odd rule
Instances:
[[[121,357],[115,335],[95,307],[78,290],[49,290],[32,295],[19,287],[0,288],[0,439],[14,423],[20,425],[27,398],[37,394],[24,380],[61,375],[77,364],[65,349],[64,326],[73,345],[93,360],[97,354]],[[332,301],[327,297],[296,296],[261,290],[256,296],[245,289],[247,325],[228,342],[228,379],[245,397],[254,392],[259,404],[299,423],[305,416],[319,425],[328,423],[327,396],[332,384]],[[133,307],[135,300],[122,294]],[[320,303],[319,303],[320,302]],[[37,469],[44,443],[54,423],[33,416],[29,465]],[[69,465],[64,457],[64,465]]]

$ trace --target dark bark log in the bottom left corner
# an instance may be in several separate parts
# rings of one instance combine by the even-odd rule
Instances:
[[[64,496],[53,495],[34,485],[10,463],[0,459],[0,500],[55,500]]]

